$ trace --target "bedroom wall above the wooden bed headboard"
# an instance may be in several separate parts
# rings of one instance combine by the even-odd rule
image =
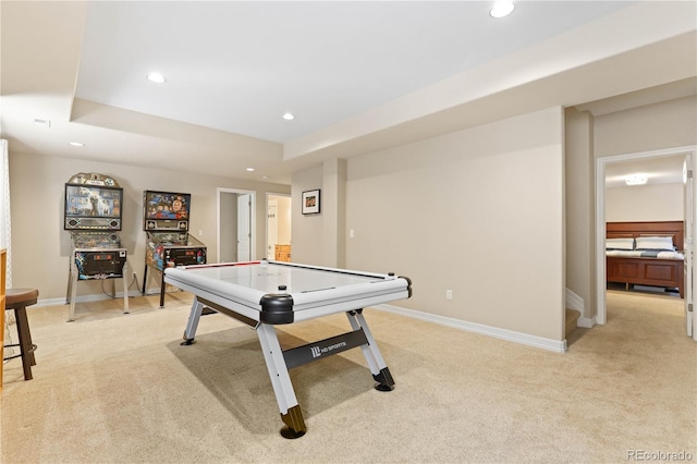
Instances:
[[[683,184],[606,188],[606,221],[682,221]]]

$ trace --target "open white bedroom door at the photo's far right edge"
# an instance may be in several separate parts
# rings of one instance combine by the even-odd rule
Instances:
[[[685,157],[683,164],[683,183],[685,200],[685,328],[687,337],[697,340],[697,319],[694,313],[695,300],[695,179],[694,179],[694,154]]]

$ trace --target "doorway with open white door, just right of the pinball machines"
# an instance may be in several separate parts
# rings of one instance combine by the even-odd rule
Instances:
[[[218,187],[217,262],[256,258],[256,192]]]

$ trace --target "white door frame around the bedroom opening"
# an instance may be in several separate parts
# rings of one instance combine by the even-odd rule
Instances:
[[[639,151],[624,155],[596,158],[596,323],[604,326],[608,321],[607,270],[606,270],[606,166],[614,162],[644,158],[693,154],[693,163],[697,155],[697,145]],[[693,208],[695,206],[693,205]],[[694,245],[693,245],[694,246]],[[693,272],[694,273],[694,272]],[[687,282],[685,282],[687,284]]]

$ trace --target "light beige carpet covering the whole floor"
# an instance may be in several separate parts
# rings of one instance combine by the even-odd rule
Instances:
[[[565,354],[366,309],[392,392],[359,350],[291,370],[307,434],[282,422],[254,330],[191,295],[27,309],[34,380],[4,366],[2,463],[621,463],[697,460],[697,343],[682,301],[609,292],[608,323]],[[343,315],[279,327],[284,346],[348,330]],[[635,454],[636,455],[636,454]]]

